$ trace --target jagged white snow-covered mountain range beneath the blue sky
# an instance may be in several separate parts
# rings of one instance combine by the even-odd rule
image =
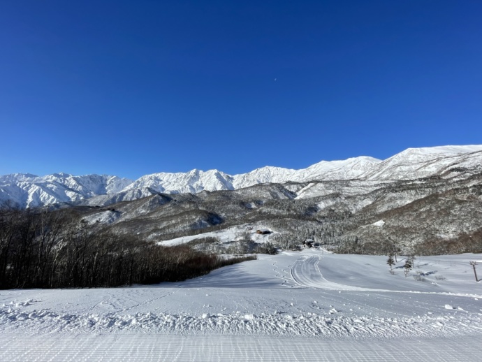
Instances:
[[[17,173],[0,176],[0,202],[13,201],[21,207],[31,208],[87,198],[129,201],[156,192],[196,194],[200,191],[233,190],[267,182],[407,180],[432,175],[443,177],[448,170],[478,168],[481,165],[482,145],[465,145],[409,148],[384,161],[373,157],[321,161],[300,170],[266,166],[239,175],[217,170],[192,170],[187,173],[154,173],[129,180],[112,175],[54,173],[38,177]]]

